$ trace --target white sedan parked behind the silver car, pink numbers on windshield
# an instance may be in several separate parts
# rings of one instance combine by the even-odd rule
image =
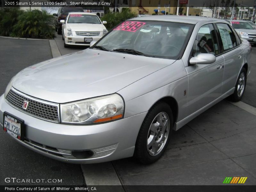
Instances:
[[[90,45],[92,41],[98,41],[107,34],[108,30],[94,13],[70,12],[62,23],[62,39],[64,47],[69,45]]]

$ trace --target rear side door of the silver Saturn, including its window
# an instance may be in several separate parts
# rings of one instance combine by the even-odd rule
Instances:
[[[226,23],[216,23],[220,38],[221,52],[224,57],[224,75],[222,93],[228,92],[236,84],[243,64],[241,40]]]

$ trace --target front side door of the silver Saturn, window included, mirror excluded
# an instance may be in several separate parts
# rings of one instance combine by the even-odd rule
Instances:
[[[197,64],[186,67],[188,72],[188,114],[203,108],[220,97],[224,58],[220,54],[220,46],[216,28],[213,24],[203,25],[193,45],[193,57],[199,53],[211,53],[216,56],[212,64]]]

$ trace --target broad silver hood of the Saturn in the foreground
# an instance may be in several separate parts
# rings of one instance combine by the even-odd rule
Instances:
[[[115,93],[174,61],[86,49],[25,68],[12,86],[42,100],[65,103]]]

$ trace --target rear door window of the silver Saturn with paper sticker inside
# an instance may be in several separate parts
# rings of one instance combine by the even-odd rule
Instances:
[[[219,29],[223,51],[227,51],[233,47],[236,47],[236,36],[228,24],[217,23],[217,27]]]

